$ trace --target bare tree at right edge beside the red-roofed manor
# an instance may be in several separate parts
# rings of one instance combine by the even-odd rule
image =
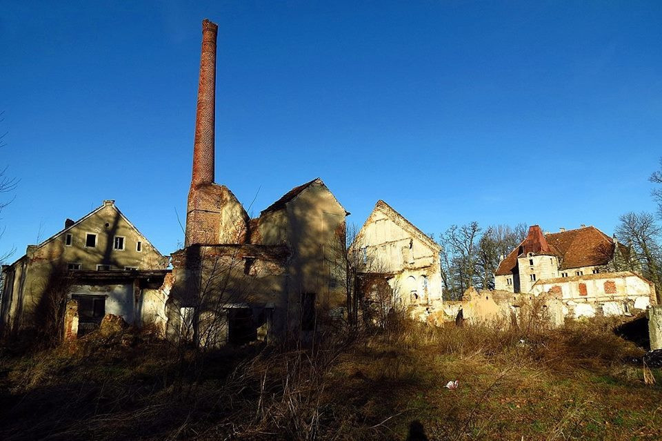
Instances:
[[[632,259],[639,262],[643,277],[655,284],[658,302],[662,302],[662,228],[651,213],[625,213],[619,217],[616,237],[630,248]]]

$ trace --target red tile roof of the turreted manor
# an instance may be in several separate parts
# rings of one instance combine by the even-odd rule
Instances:
[[[540,228],[538,226],[534,226]],[[534,228],[532,227],[532,228]],[[523,240],[503,261],[499,264],[495,275],[512,274],[517,266],[517,257],[526,255],[536,248],[528,246],[532,235],[531,230],[526,239]],[[534,233],[534,241],[540,237]],[[561,233],[548,233],[543,236],[548,244],[548,251],[540,247],[540,251],[531,251],[534,254],[553,254],[559,258],[559,269],[581,268],[583,266],[600,266],[607,264],[614,255],[614,240],[605,235],[594,226],[577,228],[576,230],[563,231]],[[530,244],[530,242],[529,242]]]

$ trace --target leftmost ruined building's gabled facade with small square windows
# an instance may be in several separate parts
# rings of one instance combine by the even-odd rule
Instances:
[[[126,315],[128,322],[134,322],[134,280],[141,279],[139,274],[143,271],[165,271],[167,267],[168,257],[150,244],[114,201],[104,201],[77,222],[67,219],[62,231],[39,245],[29,245],[25,255],[3,266],[0,323],[5,329],[14,330],[34,326],[34,320],[38,320],[35,314],[49,306],[49,296],[65,290],[69,297],[94,297],[84,297],[83,306],[89,308],[81,308],[81,322],[99,318],[87,317],[86,313],[103,315],[108,311]],[[87,274],[90,277],[83,279]],[[101,277],[103,274],[108,276]],[[114,284],[128,284],[126,292],[92,287],[89,282],[117,281],[118,277],[122,282]],[[164,275],[159,277],[163,282]]]

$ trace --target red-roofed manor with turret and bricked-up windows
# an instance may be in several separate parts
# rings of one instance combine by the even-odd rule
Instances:
[[[623,315],[656,302],[651,282],[637,274],[628,248],[594,226],[543,234],[537,225],[499,264],[495,289],[550,293],[572,317]]]

